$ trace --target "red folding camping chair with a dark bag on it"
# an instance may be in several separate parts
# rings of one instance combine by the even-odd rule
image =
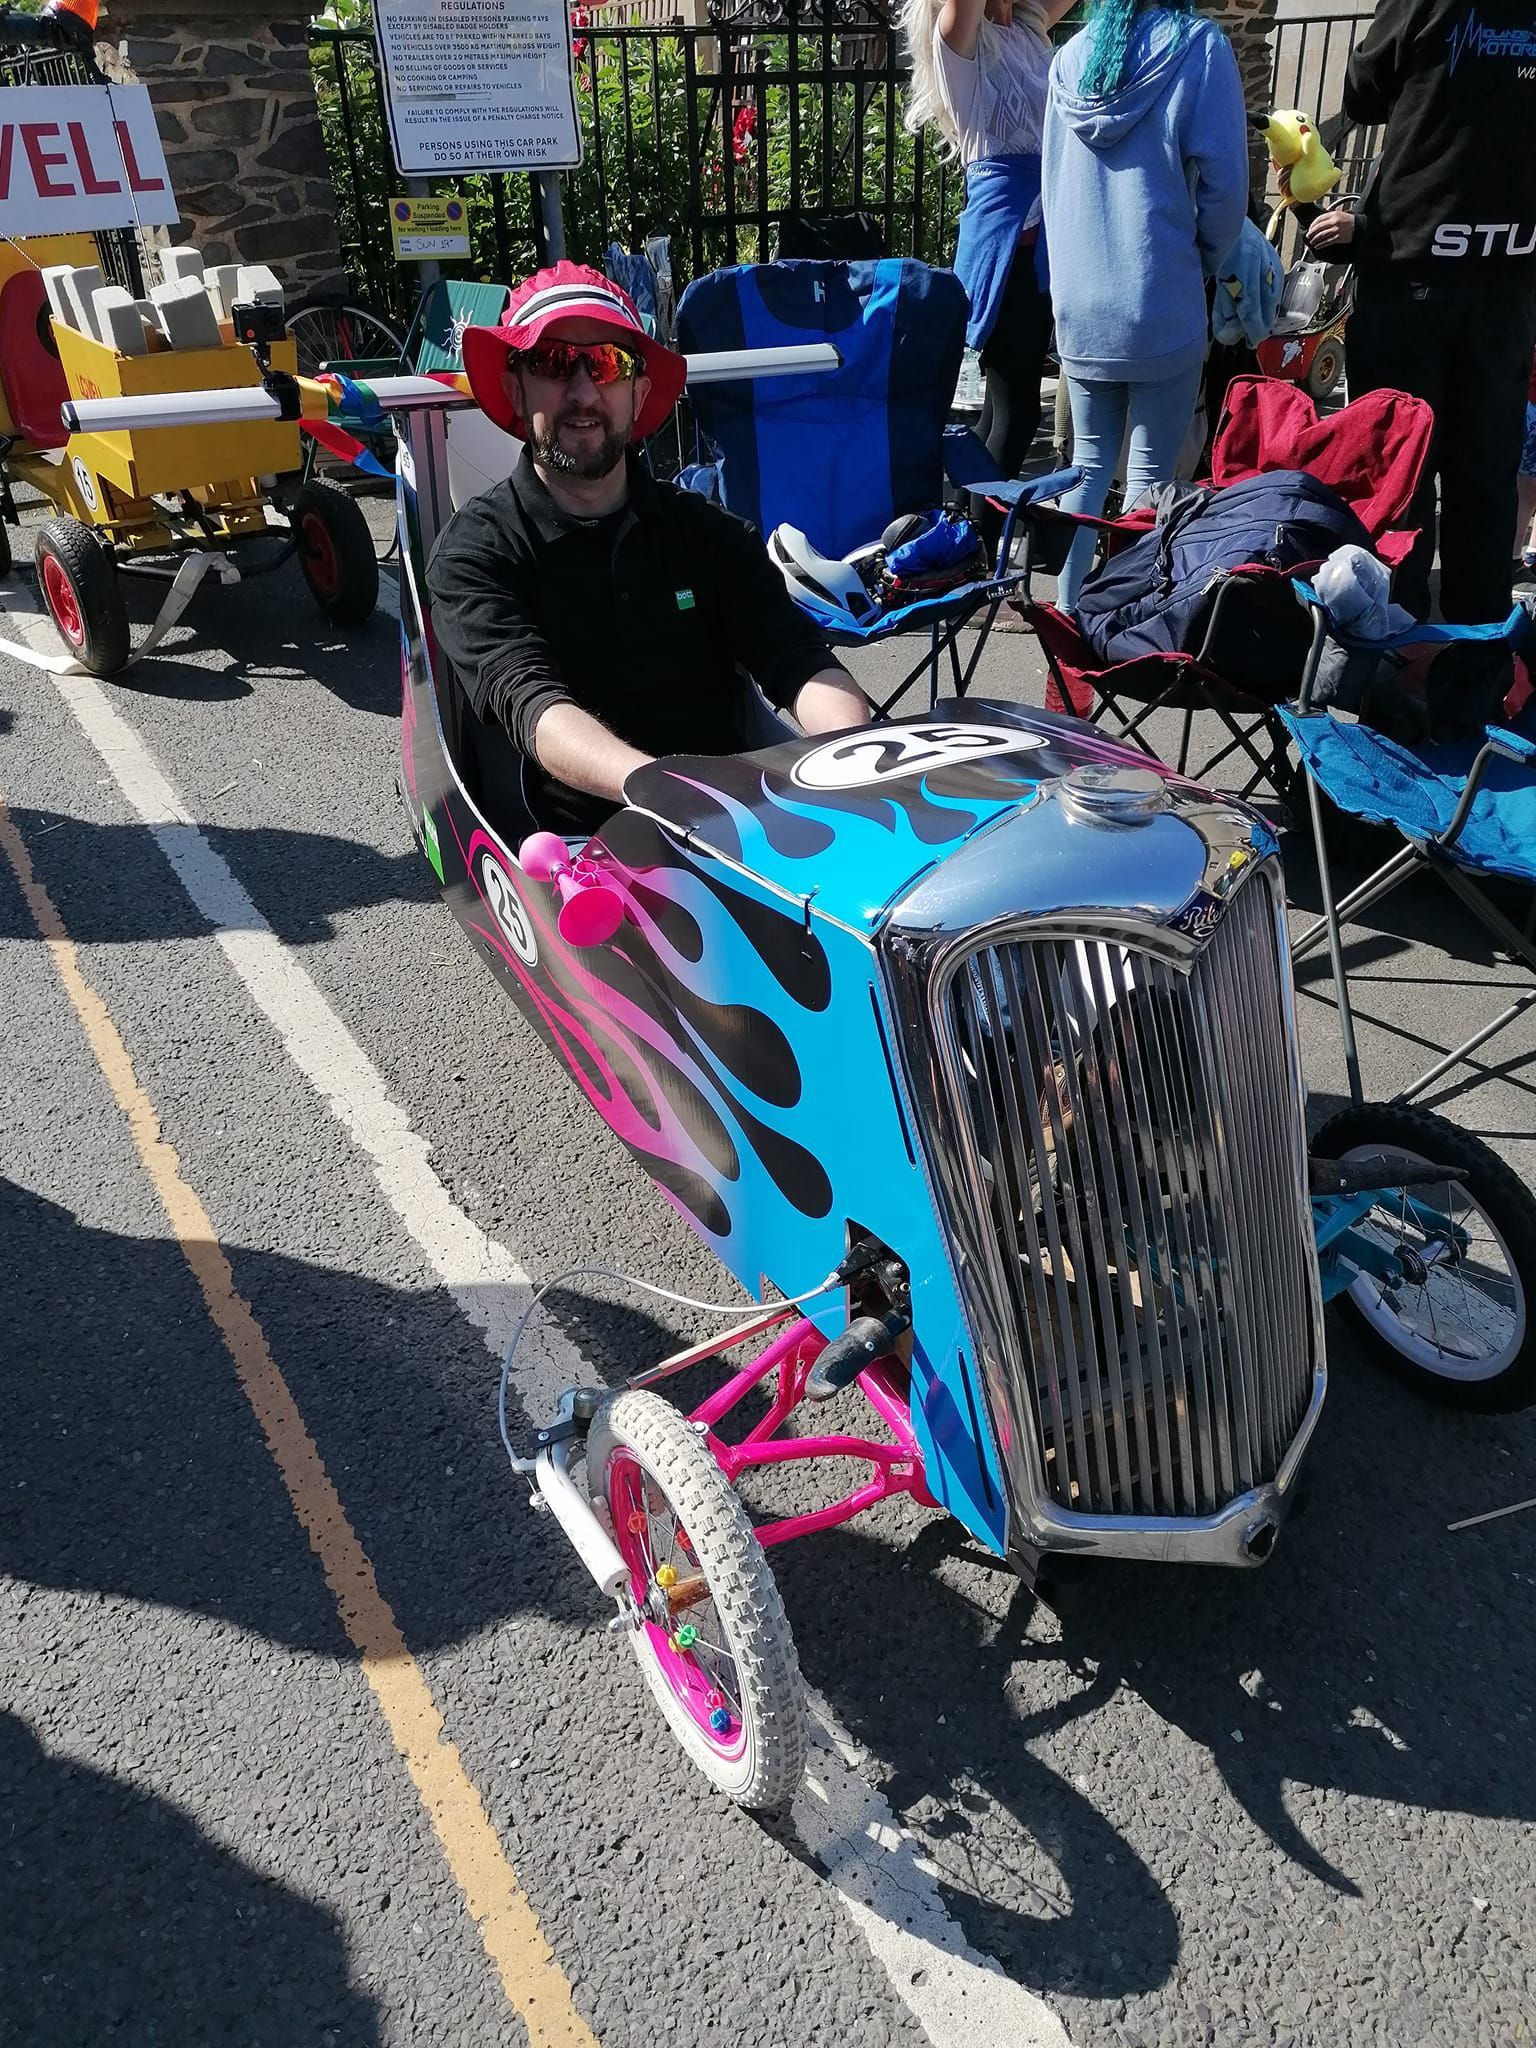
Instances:
[[[1356,512],[1389,569],[1407,555],[1415,535],[1397,520],[1407,512],[1430,453],[1434,414],[1423,399],[1403,391],[1370,391],[1343,406],[1329,420],[1292,383],[1268,377],[1235,377],[1227,387],[1217,438],[1210,449],[1210,481],[1219,487],[1241,483],[1270,469],[1307,469],[1331,485]],[[1081,514],[1047,506],[1022,508],[1028,535],[1026,569],[1059,565]],[[1106,555],[1126,547],[1153,524],[1149,508],[1118,520],[1090,520],[1104,532]],[[1024,618],[1034,627],[1051,668],[1047,705],[1081,719],[1112,719],[1124,739],[1147,748],[1143,727],[1155,711],[1182,711],[1184,737],[1180,772],[1190,772],[1190,737],[1196,711],[1214,711],[1227,729],[1227,743],[1200,768],[1206,778],[1233,754],[1245,754],[1253,772],[1241,795],[1270,786],[1284,797],[1292,782],[1288,733],[1276,705],[1300,688],[1311,629],[1296,604],[1292,578],[1311,575],[1319,563],[1272,569],[1262,563],[1229,569],[1217,586],[1198,649],[1141,655],[1116,668],[1098,668],[1092,647],[1069,612],[1055,604],[1028,602]],[[1026,582],[1028,588],[1028,582]],[[1243,647],[1262,635],[1268,666],[1294,670],[1286,688],[1255,688],[1243,682]],[[1276,664],[1276,649],[1280,659]],[[1294,662],[1290,659],[1294,651]]]

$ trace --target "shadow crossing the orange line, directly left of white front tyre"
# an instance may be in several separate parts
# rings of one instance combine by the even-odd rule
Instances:
[[[23,1475],[0,1495],[0,1571],[352,1657],[178,1245],[2,1178],[0,1243]],[[238,1247],[229,1264],[412,1649],[524,1608],[592,1622],[590,1581],[506,1468],[496,1362],[451,1296]]]

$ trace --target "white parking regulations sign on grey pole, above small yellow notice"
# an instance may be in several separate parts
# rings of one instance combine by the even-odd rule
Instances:
[[[373,0],[373,33],[401,178],[582,162],[565,0]]]

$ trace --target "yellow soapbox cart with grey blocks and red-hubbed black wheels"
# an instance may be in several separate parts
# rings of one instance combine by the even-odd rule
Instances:
[[[117,571],[174,582],[178,557],[197,551],[221,557],[223,580],[297,555],[322,612],[338,627],[360,625],[379,598],[373,535],[354,500],[313,473],[299,420],[201,416],[207,393],[248,387],[260,399],[281,389],[297,369],[293,342],[250,330],[242,338],[225,319],[217,348],[117,354],[51,315],[43,270],[55,264],[98,264],[94,236],[0,242],[0,514],[18,524],[16,483],[53,506],[33,553],[43,602],[76,659],[96,676],[125,668],[129,614]],[[160,399],[156,428],[72,432],[63,408],[102,397]],[[10,559],[0,526],[0,573]]]

